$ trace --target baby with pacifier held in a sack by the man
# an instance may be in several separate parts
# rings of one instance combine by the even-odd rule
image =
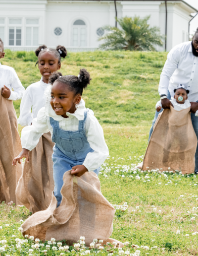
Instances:
[[[191,107],[191,103],[188,100],[189,90],[185,88],[185,85],[178,84],[177,89],[174,89],[174,98],[171,97],[171,103],[175,110],[180,111]],[[159,112],[162,108],[161,100],[155,105],[156,111]],[[196,116],[198,116],[198,111],[196,111]]]

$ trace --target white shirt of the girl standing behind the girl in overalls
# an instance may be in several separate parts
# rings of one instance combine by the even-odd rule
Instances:
[[[28,86],[21,100],[18,124],[21,126],[31,125],[39,110],[46,104],[45,90],[47,86],[48,84],[43,82],[43,77],[40,81]]]

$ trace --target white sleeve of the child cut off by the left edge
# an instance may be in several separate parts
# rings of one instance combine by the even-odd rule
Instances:
[[[18,78],[18,75],[16,73],[16,71],[14,70],[14,68],[12,68],[12,72],[11,72],[11,86],[12,86],[12,90],[11,94],[8,98],[8,100],[20,100],[23,96],[23,93],[25,91],[25,88],[23,87],[21,81]]]

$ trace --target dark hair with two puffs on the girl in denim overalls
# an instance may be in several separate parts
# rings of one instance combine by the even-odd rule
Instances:
[[[80,69],[79,75],[63,75],[61,76],[60,72],[53,72],[49,76],[49,83],[53,85],[55,81],[67,85],[69,90],[73,91],[74,94],[83,94],[83,89],[85,89],[92,78],[90,77],[90,73],[87,69]]]

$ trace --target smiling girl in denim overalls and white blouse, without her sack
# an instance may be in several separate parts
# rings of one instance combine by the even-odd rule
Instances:
[[[32,126],[23,128],[21,141],[23,150],[14,158],[13,164],[26,157],[45,132],[51,132],[53,147],[54,195],[57,207],[62,196],[63,175],[72,169],[71,174],[82,176],[87,171],[99,174],[100,165],[108,156],[103,130],[93,111],[85,108],[81,99],[83,89],[90,84],[90,74],[81,69],[78,76],[53,73],[49,78],[49,94],[46,106],[42,108]],[[46,92],[48,94],[48,92]]]

